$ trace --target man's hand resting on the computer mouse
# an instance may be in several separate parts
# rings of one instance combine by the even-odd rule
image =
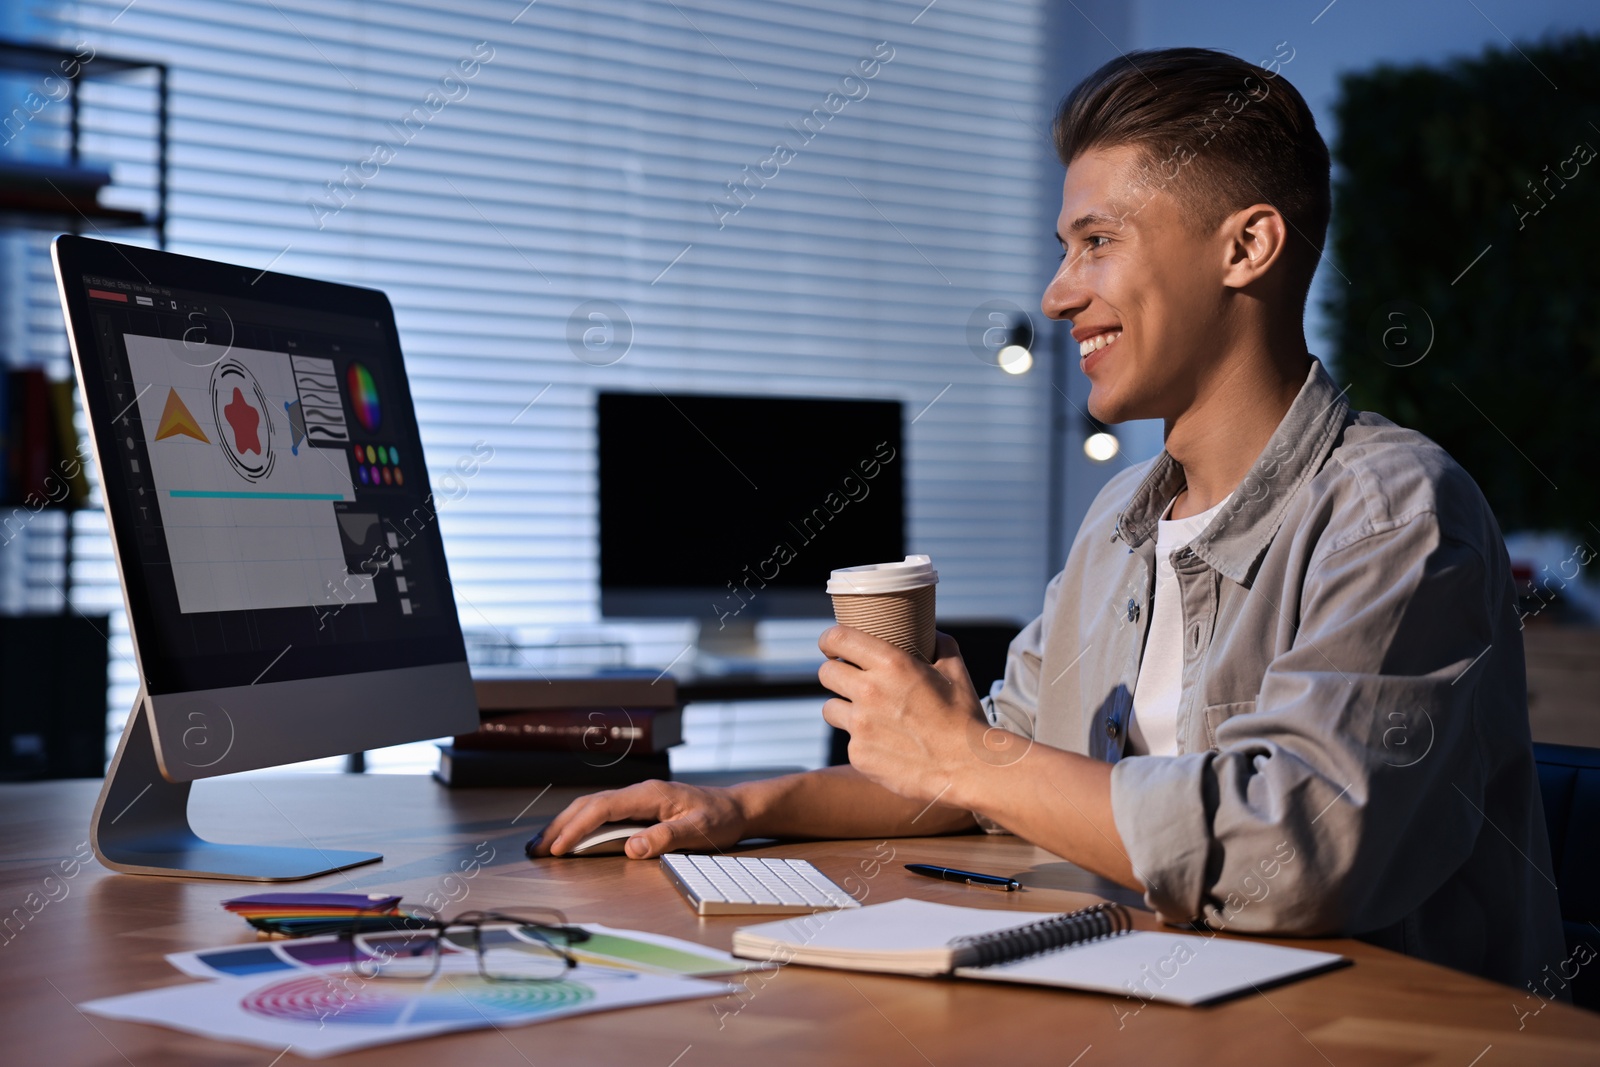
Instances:
[[[746,835],[746,814],[731,792],[651,781],[579,797],[544,827],[531,854],[565,856],[606,822],[654,822],[627,838],[629,859],[723,848]]]

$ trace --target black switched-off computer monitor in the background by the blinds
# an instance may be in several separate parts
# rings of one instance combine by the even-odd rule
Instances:
[[[829,571],[906,555],[902,406],[602,392],[600,611],[693,617],[755,653],[757,619],[826,617]]]

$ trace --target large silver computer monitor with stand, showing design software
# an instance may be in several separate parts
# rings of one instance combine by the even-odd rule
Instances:
[[[264,881],[381,859],[205,841],[187,801],[477,728],[389,299],[82,237],[53,259],[141,686],[96,854]]]

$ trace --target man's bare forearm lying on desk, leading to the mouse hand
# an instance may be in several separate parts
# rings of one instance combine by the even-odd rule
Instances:
[[[731,792],[750,837],[933,837],[976,825],[970,811],[906,800],[851,766],[744,782]]]

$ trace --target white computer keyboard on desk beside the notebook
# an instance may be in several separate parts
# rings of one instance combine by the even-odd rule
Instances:
[[[802,915],[861,907],[803,859],[667,853],[661,865],[701,915]]]

